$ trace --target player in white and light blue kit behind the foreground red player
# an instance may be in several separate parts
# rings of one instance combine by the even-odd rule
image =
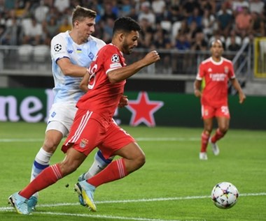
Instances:
[[[31,170],[31,181],[49,166],[50,158],[63,137],[69,133],[76,114],[76,102],[84,94],[79,84],[92,59],[104,45],[103,40],[91,36],[96,13],[77,6],[73,10],[72,29],[59,33],[51,41],[52,75],[55,81],[55,100],[50,109],[43,146],[36,154]],[[89,178],[106,167],[111,160],[98,151],[90,170],[83,174]],[[84,177],[85,175],[85,177]],[[38,192],[29,199],[29,208],[35,208]]]

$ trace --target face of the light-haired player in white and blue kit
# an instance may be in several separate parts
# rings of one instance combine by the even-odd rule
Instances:
[[[95,31],[94,29],[95,19],[86,17],[83,21],[76,21],[76,27],[78,28],[78,37],[83,42],[87,41],[87,38]]]

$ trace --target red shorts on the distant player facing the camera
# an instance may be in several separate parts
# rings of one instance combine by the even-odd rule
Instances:
[[[211,119],[214,118],[214,116],[222,116],[227,119],[230,119],[230,112],[228,106],[223,105],[220,107],[212,107],[202,105],[202,119]]]

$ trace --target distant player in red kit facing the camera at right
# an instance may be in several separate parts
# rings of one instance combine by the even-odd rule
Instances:
[[[194,82],[195,96],[201,98],[202,119],[204,121],[200,160],[208,159],[208,142],[212,146],[214,155],[220,153],[216,142],[228,131],[230,123],[228,79],[230,79],[232,86],[234,86],[239,93],[239,102],[243,103],[246,99],[235,77],[232,61],[225,59],[222,54],[223,44],[221,40],[215,40],[211,44],[211,57],[202,61]],[[205,80],[205,86],[201,92],[202,79]],[[214,117],[217,119],[218,129],[211,137]]]

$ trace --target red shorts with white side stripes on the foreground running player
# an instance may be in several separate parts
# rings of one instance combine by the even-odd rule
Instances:
[[[78,109],[62,151],[66,153],[69,144],[73,144],[73,148],[77,151],[88,155],[98,147],[107,159],[115,151],[132,142],[135,142],[134,138],[120,128],[115,121],[107,122],[96,113]]]

